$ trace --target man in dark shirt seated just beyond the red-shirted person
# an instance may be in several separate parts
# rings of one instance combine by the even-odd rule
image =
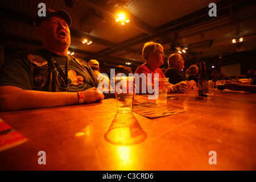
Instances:
[[[181,81],[185,81],[188,84],[188,89],[196,89],[197,82],[194,80],[189,80],[185,77],[182,69],[184,69],[185,61],[179,53],[173,53],[168,58],[168,68],[164,72],[164,75],[169,78],[171,84],[177,84]]]

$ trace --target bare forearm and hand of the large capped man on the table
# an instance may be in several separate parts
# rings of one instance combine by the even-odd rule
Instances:
[[[84,104],[104,99],[97,88],[91,88],[82,92]],[[0,86],[0,111],[37,109],[65,105],[78,104],[76,92],[42,92],[35,90],[23,90],[16,86]]]

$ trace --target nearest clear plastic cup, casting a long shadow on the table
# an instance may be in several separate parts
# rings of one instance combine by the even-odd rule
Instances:
[[[133,108],[134,77],[113,77],[115,83],[115,100],[119,113],[129,113]]]

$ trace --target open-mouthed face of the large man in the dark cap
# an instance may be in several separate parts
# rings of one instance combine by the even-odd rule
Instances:
[[[71,43],[71,36],[67,22],[57,16],[44,20],[40,25],[39,34],[43,43],[50,47],[68,48]]]

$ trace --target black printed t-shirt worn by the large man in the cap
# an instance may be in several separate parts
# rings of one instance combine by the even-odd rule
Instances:
[[[63,70],[64,76],[68,61],[67,85],[50,57]],[[77,92],[97,87],[98,80],[85,61],[39,49],[33,53],[20,51],[8,57],[0,68],[0,85],[17,86],[24,90]]]

